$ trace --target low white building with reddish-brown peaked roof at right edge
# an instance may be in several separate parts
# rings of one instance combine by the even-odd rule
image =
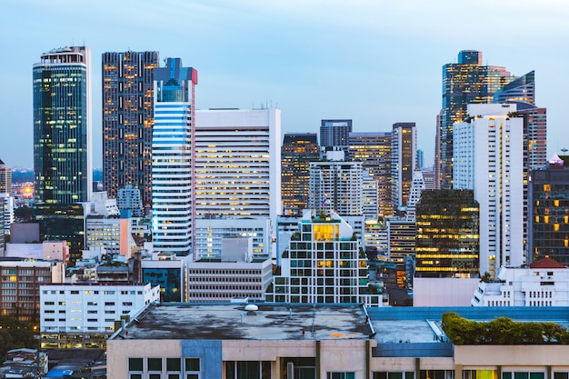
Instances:
[[[524,267],[502,267],[480,282],[473,306],[569,306],[569,268],[545,257]]]

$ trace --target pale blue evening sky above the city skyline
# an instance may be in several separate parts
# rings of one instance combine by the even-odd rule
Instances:
[[[92,52],[93,161],[102,167],[101,55],[158,51],[198,71],[197,109],[275,106],[282,132],[414,122],[434,157],[442,66],[461,50],[513,75],[535,70],[548,156],[569,148],[569,2],[562,0],[17,0],[0,5],[0,159],[33,167],[32,66],[56,47]]]

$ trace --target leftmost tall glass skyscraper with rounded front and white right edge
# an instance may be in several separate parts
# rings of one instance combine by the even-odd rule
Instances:
[[[93,192],[90,49],[43,54],[33,91],[35,202],[86,202]]]

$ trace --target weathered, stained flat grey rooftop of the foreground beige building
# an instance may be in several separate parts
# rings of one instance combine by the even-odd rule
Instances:
[[[151,304],[114,339],[330,340],[368,339],[357,305]]]

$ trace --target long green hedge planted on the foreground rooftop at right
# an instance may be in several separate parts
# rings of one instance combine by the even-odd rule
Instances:
[[[489,322],[467,320],[454,312],[443,314],[443,330],[460,344],[569,344],[569,331],[550,322],[515,322],[497,317]]]

